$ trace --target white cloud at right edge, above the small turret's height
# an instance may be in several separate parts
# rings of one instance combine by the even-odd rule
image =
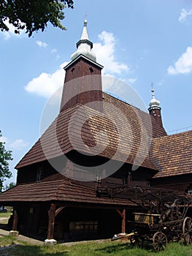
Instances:
[[[192,47],[188,47],[185,53],[174,63],[174,66],[169,66],[167,71],[169,75],[188,74],[192,72]]]

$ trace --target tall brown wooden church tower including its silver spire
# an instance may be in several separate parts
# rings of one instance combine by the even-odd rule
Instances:
[[[77,42],[77,50],[72,54],[72,61],[64,67],[66,70],[64,90],[60,111],[74,105],[86,105],[88,108],[103,111],[101,66],[92,52],[93,43],[88,39],[88,21],[84,20],[82,35]]]

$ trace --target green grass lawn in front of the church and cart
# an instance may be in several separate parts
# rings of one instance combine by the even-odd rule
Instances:
[[[18,244],[19,243],[19,244]],[[6,256],[34,256],[34,255],[63,255],[63,256],[191,256],[192,245],[184,246],[180,243],[169,243],[166,251],[153,252],[150,246],[141,248],[132,248],[130,244],[120,241],[107,241],[104,243],[91,242],[86,244],[76,244],[73,246],[64,246],[58,244],[56,246],[34,246],[26,244],[22,241],[17,241],[17,238],[4,236],[0,238],[0,246],[6,244],[17,244],[9,248],[0,247],[0,255]]]

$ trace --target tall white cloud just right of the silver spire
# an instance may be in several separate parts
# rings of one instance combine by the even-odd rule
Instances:
[[[115,37],[112,33],[102,31],[99,34],[101,42],[93,44],[93,51],[96,53],[97,61],[104,65],[104,74],[120,74],[123,71],[128,71],[126,64],[115,60]]]

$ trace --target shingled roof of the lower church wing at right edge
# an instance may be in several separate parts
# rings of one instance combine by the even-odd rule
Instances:
[[[153,178],[192,173],[192,130],[153,139],[151,154],[158,168]]]

